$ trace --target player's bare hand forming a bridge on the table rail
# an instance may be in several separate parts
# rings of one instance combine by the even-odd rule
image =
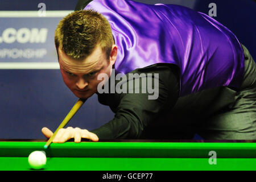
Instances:
[[[47,138],[50,138],[53,133],[51,130],[49,130],[47,127],[42,128],[42,133]],[[67,127],[67,129],[60,129],[55,138],[53,138],[53,143],[64,143],[67,140],[74,138],[76,143],[81,142],[81,138],[88,138],[90,140],[93,140],[94,142],[98,141],[98,137],[96,134],[89,132],[88,130],[82,130],[79,127],[76,127],[75,129],[73,127]]]

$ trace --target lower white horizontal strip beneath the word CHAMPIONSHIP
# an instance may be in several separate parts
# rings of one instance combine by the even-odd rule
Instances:
[[[59,63],[0,63],[0,69],[60,69]]]

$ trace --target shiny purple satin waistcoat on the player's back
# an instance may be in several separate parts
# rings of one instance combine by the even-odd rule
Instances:
[[[129,73],[156,63],[180,68],[180,96],[217,86],[240,88],[243,50],[236,36],[200,12],[178,5],[94,0],[118,46],[115,70]]]

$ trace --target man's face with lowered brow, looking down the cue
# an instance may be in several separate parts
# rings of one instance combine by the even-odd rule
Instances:
[[[60,72],[68,88],[79,98],[89,98],[97,92],[102,80],[97,80],[100,73],[111,75],[117,55],[117,46],[113,45],[109,61],[100,46],[85,59],[75,60],[58,49]],[[103,78],[102,78],[103,79]],[[107,80],[104,80],[107,81]]]

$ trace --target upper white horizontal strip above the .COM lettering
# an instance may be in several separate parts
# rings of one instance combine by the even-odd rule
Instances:
[[[46,10],[46,16],[39,16],[39,11],[0,11],[0,18],[49,18],[49,17],[61,17],[72,13],[72,10],[67,11],[48,11]]]

